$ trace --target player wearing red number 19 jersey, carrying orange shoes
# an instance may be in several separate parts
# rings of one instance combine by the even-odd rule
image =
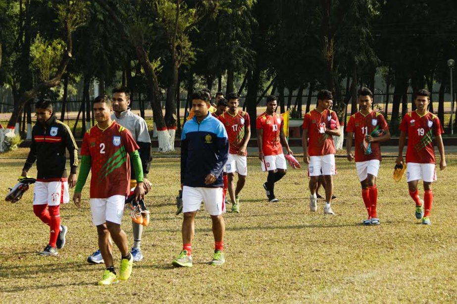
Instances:
[[[440,170],[444,170],[446,169],[446,156],[441,138],[444,131],[438,117],[427,110],[430,103],[429,91],[426,89],[417,91],[414,103],[417,109],[407,113],[400,124],[397,164],[403,162],[403,147],[406,135],[408,135],[406,181],[409,195],[416,204],[416,218],[422,218],[422,224],[430,225],[430,210],[433,202],[432,182],[436,180],[435,149],[432,138],[435,136],[440,152]],[[419,198],[419,190],[417,190],[419,179],[422,179],[424,184],[423,201]]]

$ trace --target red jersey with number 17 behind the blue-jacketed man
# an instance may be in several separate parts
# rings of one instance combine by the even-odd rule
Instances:
[[[247,112],[237,110],[235,115],[225,112],[219,115],[218,118],[224,125],[225,130],[227,130],[230,146],[229,153],[238,154],[245,138],[246,128],[248,128],[251,124],[249,114]],[[248,155],[248,153],[245,151],[244,155]]]

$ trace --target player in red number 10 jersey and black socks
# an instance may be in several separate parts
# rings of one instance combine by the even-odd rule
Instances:
[[[266,97],[266,111],[257,118],[255,123],[258,158],[261,161],[262,171],[268,171],[263,188],[270,203],[279,202],[274,195],[274,184],[286,175],[287,165],[281,142],[286,147],[287,153],[293,154],[284,134],[284,119],[276,114],[277,107],[275,96]]]

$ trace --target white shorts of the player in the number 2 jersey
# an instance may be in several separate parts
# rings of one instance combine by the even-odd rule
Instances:
[[[124,215],[124,205],[124,195],[91,198],[92,222],[96,226],[104,224],[106,221],[120,224]]]

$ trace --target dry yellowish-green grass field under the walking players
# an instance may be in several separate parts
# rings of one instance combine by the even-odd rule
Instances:
[[[393,162],[385,159],[379,172],[381,225],[366,227],[360,224],[365,211],[354,163],[337,159],[338,198],[332,217],[323,215],[322,200],[318,212],[309,212],[304,169],[289,170],[276,186],[281,202],[268,203],[261,186],[266,174],[250,158],[241,214],[225,215],[226,264],[208,265],[213,238],[209,216],[201,212],[196,219],[194,267],[183,269],[171,267],[181,250],[182,216],[174,215],[179,159],[155,158],[150,174],[153,191],[147,200],[152,220],[142,244],[145,260],[134,265],[129,281],[108,287],[96,285],[103,267],[86,263],[97,246],[88,187],[82,210],[72,203],[62,207],[63,223],[69,227],[67,245],[57,257],[48,258],[37,256],[48,242],[49,230],[33,215],[29,190],[16,204],[2,203],[2,303],[456,303],[457,159],[448,159],[448,168],[438,172],[432,226],[415,219],[405,179],[392,180]],[[0,163],[4,197],[24,160]],[[127,215],[123,227],[131,245]],[[117,267],[120,254],[114,252]]]

